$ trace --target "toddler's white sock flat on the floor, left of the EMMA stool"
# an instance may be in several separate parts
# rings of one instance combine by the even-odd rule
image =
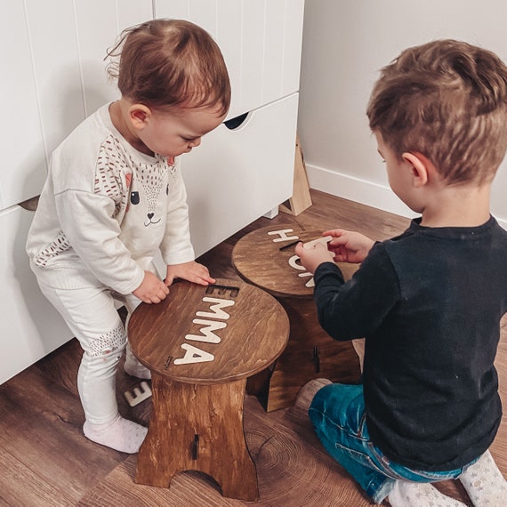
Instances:
[[[83,431],[87,439],[97,444],[133,455],[139,451],[148,428],[117,414],[111,422],[105,424],[84,421]]]

